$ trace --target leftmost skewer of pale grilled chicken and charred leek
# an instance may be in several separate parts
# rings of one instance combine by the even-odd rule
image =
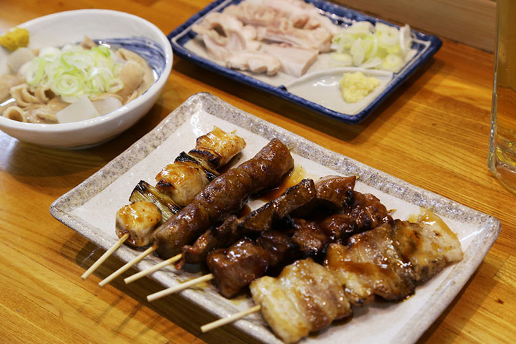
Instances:
[[[177,214],[201,189],[218,175],[217,169],[227,164],[246,147],[244,139],[214,127],[195,142],[195,149],[180,153],[172,164],[156,176],[156,187],[140,181],[129,197],[131,204],[116,214],[116,235],[120,238],[82,276],[86,279],[122,243],[133,247],[150,244],[153,230]],[[158,219],[158,221],[150,221]],[[125,239],[121,239],[121,238]]]

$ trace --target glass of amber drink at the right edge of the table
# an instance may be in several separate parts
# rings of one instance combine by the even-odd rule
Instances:
[[[516,0],[497,0],[488,167],[516,193]]]

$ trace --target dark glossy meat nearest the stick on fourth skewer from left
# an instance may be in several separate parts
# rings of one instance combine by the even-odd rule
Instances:
[[[288,235],[270,231],[260,233],[256,241],[244,238],[229,248],[212,251],[206,263],[220,293],[233,297],[258,277],[290,264],[296,254]]]

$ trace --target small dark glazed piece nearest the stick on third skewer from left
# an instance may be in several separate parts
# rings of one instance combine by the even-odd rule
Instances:
[[[236,215],[227,217],[222,225],[206,230],[195,240],[193,245],[185,245],[182,248],[182,259],[175,268],[181,268],[183,264],[202,264],[206,261],[208,253],[215,248],[228,247],[242,237],[242,230],[238,224],[240,219]]]

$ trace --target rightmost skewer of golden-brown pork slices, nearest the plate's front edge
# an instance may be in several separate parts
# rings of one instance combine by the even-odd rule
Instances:
[[[440,217],[425,211],[416,223],[387,222],[353,235],[348,246],[331,244],[325,268],[308,258],[286,267],[276,278],[256,279],[250,284],[257,303],[252,309],[260,306],[275,334],[285,343],[296,343],[346,316],[345,310],[350,315],[350,305],[365,305],[375,295],[389,301],[405,299],[416,282],[461,259],[457,235]]]

